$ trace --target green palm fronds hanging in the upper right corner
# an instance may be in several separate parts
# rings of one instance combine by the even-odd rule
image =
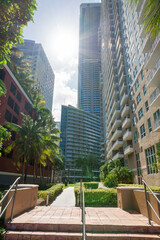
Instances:
[[[134,7],[137,4],[143,3],[142,0],[127,0]],[[155,37],[160,32],[160,1],[145,0],[144,13],[140,18],[140,23],[143,25],[146,34]]]

